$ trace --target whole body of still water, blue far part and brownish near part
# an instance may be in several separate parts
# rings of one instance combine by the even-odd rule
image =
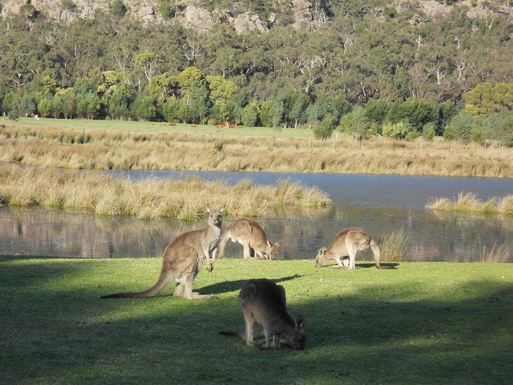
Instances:
[[[281,174],[274,172],[201,172],[114,170],[131,178],[180,178],[196,174],[235,183],[251,178],[273,183],[290,178],[317,185],[333,205],[325,208],[272,209],[260,221],[271,241],[283,239],[279,257],[313,258],[341,229],[360,226],[378,239],[404,228],[410,236],[410,261],[479,260],[483,249],[513,247],[513,219],[482,214],[445,213],[424,209],[431,196],[452,197],[472,191],[480,198],[513,192],[512,179],[381,175]],[[224,221],[224,226],[230,224]],[[141,221],[62,211],[0,209],[0,254],[87,258],[161,257],[176,235],[203,227],[201,222]],[[242,257],[242,247],[230,244],[228,257]],[[369,254],[364,255],[368,257]]]

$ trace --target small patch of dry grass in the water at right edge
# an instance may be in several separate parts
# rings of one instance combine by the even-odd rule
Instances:
[[[472,192],[460,192],[457,197],[431,198],[426,208],[447,211],[478,211],[480,213],[506,214],[513,216],[513,195],[503,198],[492,197],[482,201]]]

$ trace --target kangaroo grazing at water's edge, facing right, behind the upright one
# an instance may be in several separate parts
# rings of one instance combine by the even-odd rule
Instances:
[[[219,258],[224,257],[226,242],[239,242],[244,247],[244,259],[256,253],[260,258],[273,260],[282,241],[271,243],[262,226],[252,219],[239,218],[226,228],[219,242]]]

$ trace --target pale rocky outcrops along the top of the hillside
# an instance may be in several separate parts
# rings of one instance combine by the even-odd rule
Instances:
[[[169,3],[163,0],[126,0],[124,5],[126,14],[132,15],[145,23],[179,22],[184,27],[194,28],[200,32],[208,31],[214,25],[231,24],[238,33],[247,31],[266,32],[277,23],[277,14],[286,14],[287,23],[295,28],[302,25],[314,26],[315,24],[329,23],[329,17],[325,12],[325,4],[312,0],[292,0],[292,2],[277,1],[261,12],[245,11],[247,7],[241,3],[232,3],[229,7],[212,6],[215,2],[181,0],[173,3],[172,12]],[[55,21],[70,23],[77,18],[93,18],[96,11],[107,11],[107,0],[0,0],[0,15],[8,16],[23,12],[23,7],[33,6],[38,12],[45,14]],[[333,3],[333,2],[331,2]],[[449,4],[453,3],[453,4]],[[489,1],[465,0],[463,2],[438,2],[426,0],[416,3],[396,1],[394,6],[400,11],[401,7],[417,7],[419,11],[429,17],[437,17],[449,14],[453,7],[467,6],[464,14],[469,18],[494,17],[494,15],[511,14],[511,7],[497,3],[491,7]],[[380,6],[377,5],[379,11]],[[171,13],[171,15],[169,14]]]

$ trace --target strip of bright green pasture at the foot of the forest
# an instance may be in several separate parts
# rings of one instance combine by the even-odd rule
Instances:
[[[235,128],[218,128],[213,125],[177,123],[176,127],[169,126],[167,122],[128,122],[121,120],[85,120],[85,119],[53,119],[41,118],[19,118],[19,121],[13,122],[4,118],[0,118],[0,124],[9,124],[14,126],[33,126],[33,127],[55,127],[61,129],[75,130],[112,130],[130,132],[180,132],[200,135],[225,135],[225,136],[255,136],[255,137],[274,137],[278,138],[311,138],[312,130],[306,128],[283,128],[275,129],[273,127],[245,127],[242,129]]]

